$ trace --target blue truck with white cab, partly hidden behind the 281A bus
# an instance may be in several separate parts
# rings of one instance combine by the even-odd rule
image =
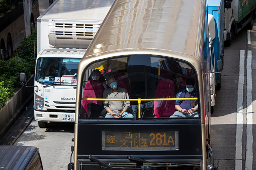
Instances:
[[[224,56],[224,0],[207,0],[209,43],[211,56],[211,106],[215,105],[215,90],[221,87],[221,70]],[[212,110],[213,111],[213,110]]]

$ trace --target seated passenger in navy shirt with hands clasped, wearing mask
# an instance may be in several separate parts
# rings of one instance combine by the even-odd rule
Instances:
[[[186,89],[176,95],[176,98],[194,98],[197,97],[195,90],[195,79],[188,78]],[[177,110],[172,118],[198,117],[197,100],[176,100],[175,109]]]

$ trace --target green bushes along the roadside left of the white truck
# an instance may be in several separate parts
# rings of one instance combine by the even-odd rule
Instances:
[[[0,60],[0,108],[21,87],[20,73],[26,73],[27,79],[34,73],[34,43],[36,47],[36,35],[36,29],[34,29],[31,36],[23,38],[14,53],[14,58],[6,61]]]

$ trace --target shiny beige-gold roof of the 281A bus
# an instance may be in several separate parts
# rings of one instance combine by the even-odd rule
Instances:
[[[86,56],[161,49],[197,58],[202,50],[205,7],[202,0],[118,0]],[[99,45],[102,49],[95,50]]]

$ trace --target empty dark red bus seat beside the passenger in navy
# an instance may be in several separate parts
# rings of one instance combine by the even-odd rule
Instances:
[[[174,98],[175,84],[172,80],[160,80],[155,91],[155,98]],[[154,117],[169,117],[175,112],[175,100],[154,101]]]

